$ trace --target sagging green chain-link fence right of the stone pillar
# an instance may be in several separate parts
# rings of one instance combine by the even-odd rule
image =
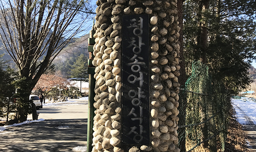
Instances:
[[[193,62],[192,75],[180,92],[179,147],[182,152],[223,152],[230,97],[214,82],[208,67]]]

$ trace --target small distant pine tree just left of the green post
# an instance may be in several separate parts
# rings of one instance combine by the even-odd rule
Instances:
[[[87,60],[88,58],[84,55],[81,54],[76,61],[74,62],[73,65],[71,66],[71,80],[74,81],[80,81],[80,92],[82,91],[82,81],[88,82],[89,81],[89,76],[87,72]]]

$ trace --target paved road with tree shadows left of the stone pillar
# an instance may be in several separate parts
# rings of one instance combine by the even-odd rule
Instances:
[[[73,152],[85,146],[88,101],[58,104],[38,110],[45,121],[0,132],[0,152]]]

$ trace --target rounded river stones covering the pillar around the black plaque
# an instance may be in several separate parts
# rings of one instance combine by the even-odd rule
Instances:
[[[178,144],[179,50],[177,0],[98,0],[93,35],[96,79],[92,152],[122,148],[122,16],[149,14],[151,144],[129,152],[180,152]]]

